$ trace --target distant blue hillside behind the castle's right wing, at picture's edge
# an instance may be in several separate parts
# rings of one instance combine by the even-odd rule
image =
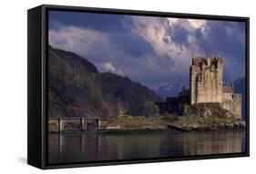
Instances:
[[[243,77],[232,83],[234,85],[235,92],[242,94],[242,118],[246,119],[246,79]]]

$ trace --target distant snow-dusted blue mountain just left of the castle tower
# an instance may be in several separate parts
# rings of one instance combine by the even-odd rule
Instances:
[[[162,98],[177,97],[178,93],[181,92],[182,89],[184,88],[188,89],[189,87],[186,87],[186,85],[183,83],[174,82],[174,83],[169,83],[167,85],[160,86],[157,90],[157,93]]]

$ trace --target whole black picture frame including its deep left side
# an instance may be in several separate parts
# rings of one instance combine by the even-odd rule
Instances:
[[[48,10],[90,12],[100,14],[132,14],[193,18],[246,23],[246,151],[241,153],[197,155],[147,160],[112,160],[50,165],[47,163],[47,45]],[[63,5],[40,5],[27,11],[27,163],[39,169],[135,164],[145,162],[206,160],[250,156],[250,18],[208,14],[179,14],[124,9],[91,8]]]

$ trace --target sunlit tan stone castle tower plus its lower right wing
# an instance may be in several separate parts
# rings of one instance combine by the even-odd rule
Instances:
[[[222,107],[241,118],[241,93],[232,86],[223,86],[223,60],[214,57],[194,57],[190,66],[190,104],[220,102]]]

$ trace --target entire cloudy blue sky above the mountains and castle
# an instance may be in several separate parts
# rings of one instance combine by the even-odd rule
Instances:
[[[245,76],[244,22],[65,11],[48,17],[51,46],[153,90],[173,82],[189,85],[192,53],[220,54],[226,84]]]

